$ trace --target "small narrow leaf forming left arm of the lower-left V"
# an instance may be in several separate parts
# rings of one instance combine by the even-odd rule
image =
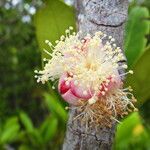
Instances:
[[[25,112],[20,113],[20,119],[24,127],[26,128],[27,132],[33,132],[34,126],[32,124],[31,119]]]

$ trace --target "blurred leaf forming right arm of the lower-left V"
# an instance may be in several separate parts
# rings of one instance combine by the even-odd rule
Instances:
[[[56,117],[48,117],[40,127],[41,136],[45,143],[49,142],[57,131],[58,120]]]

